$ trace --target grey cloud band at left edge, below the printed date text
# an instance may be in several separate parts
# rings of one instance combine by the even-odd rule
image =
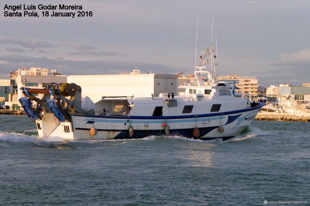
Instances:
[[[17,38],[0,37],[0,44],[16,44],[26,48],[50,48],[54,47],[47,41],[24,40]]]

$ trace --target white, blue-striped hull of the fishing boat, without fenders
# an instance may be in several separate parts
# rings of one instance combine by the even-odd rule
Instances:
[[[137,139],[147,136],[177,135],[195,139],[228,139],[241,134],[252,123],[260,107],[216,114],[201,114],[170,117],[147,116],[99,116],[70,114],[70,122],[59,122],[52,113],[46,113],[37,122],[40,138],[48,141],[87,140],[87,139]],[[163,123],[169,127],[166,134]],[[39,123],[39,124],[38,124]],[[133,135],[129,135],[129,127]],[[224,131],[220,133],[219,127]],[[90,134],[95,127],[96,135]],[[194,136],[197,127],[199,135]],[[40,129],[41,128],[41,129]]]

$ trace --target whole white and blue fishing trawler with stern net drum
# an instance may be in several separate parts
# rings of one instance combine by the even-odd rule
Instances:
[[[93,103],[87,97],[81,101],[80,86],[62,83],[45,89],[21,88],[25,97],[20,103],[36,122],[39,137],[49,141],[152,135],[225,140],[241,134],[263,103],[253,105],[249,99],[235,97],[230,84],[216,79],[215,58],[213,48],[203,52],[194,72],[195,83],[179,86],[185,89],[184,95],[113,96]],[[207,76],[205,81],[201,75]],[[44,95],[38,98],[33,93]],[[103,109],[105,115],[100,115]]]

